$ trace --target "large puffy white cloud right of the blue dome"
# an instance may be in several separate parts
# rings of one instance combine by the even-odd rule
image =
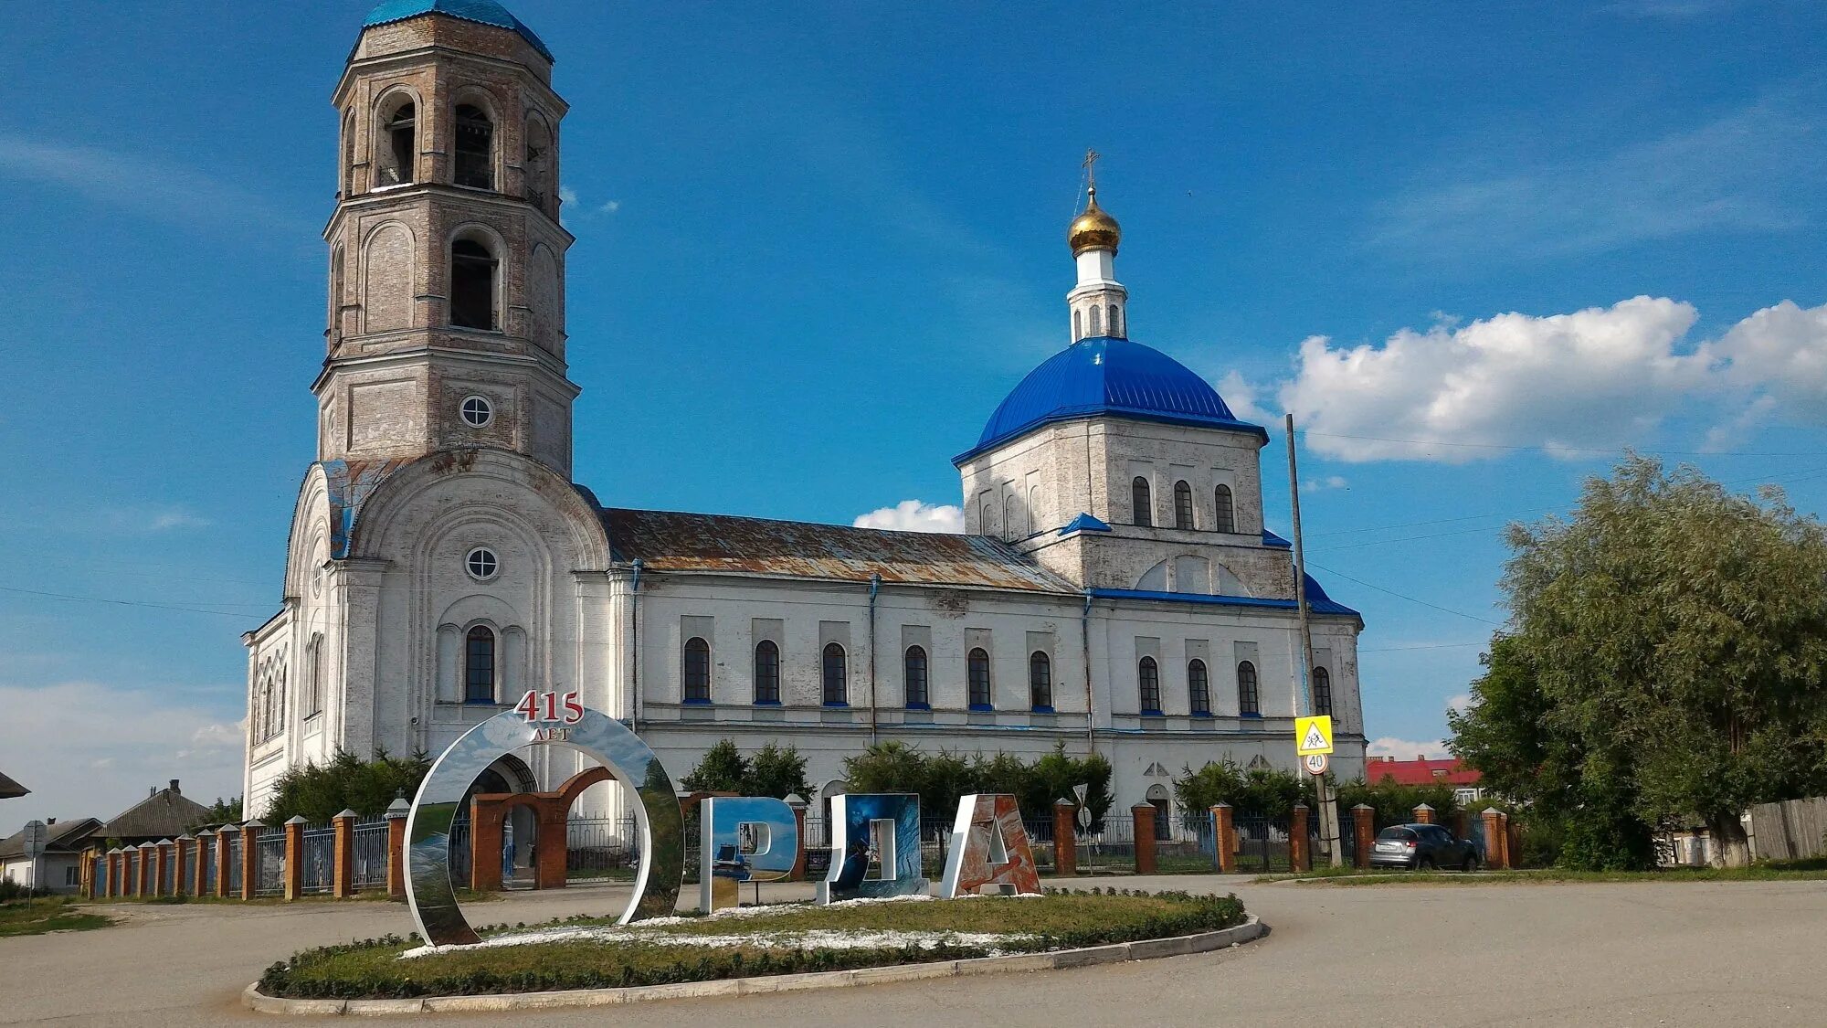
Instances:
[[[1783,300],[1688,344],[1697,316],[1690,304],[1637,296],[1438,322],[1381,346],[1312,337],[1279,395],[1308,446],[1345,461],[1619,450],[1675,413],[1712,421],[1712,446],[1765,417],[1827,424],[1827,305]]]

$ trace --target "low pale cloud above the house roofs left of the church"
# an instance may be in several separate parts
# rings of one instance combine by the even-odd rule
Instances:
[[[243,726],[216,712],[97,682],[0,684],[0,770],[31,788],[0,803],[0,834],[113,818],[174,777],[197,803],[241,794]]]

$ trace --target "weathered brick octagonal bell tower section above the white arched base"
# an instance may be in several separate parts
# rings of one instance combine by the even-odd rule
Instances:
[[[570,477],[552,53],[493,0],[387,0],[333,102],[318,459],[491,446]]]

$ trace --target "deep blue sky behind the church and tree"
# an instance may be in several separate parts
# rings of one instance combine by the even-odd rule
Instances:
[[[572,104],[605,501],[957,503],[1065,342],[1085,146],[1131,335],[1312,428],[1310,560],[1398,752],[1502,620],[1502,525],[1621,448],[1827,499],[1816,4],[512,7]],[[0,830],[238,790],[365,9],[0,5],[0,768],[38,790]],[[1279,430],[1264,472],[1284,529]]]

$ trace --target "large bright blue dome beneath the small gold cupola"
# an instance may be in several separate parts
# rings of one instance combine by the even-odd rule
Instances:
[[[1261,424],[1237,421],[1231,408],[1186,364],[1127,338],[1082,338],[1049,357],[996,408],[983,435],[954,463],[965,463],[1056,421],[1129,417],[1197,428],[1250,432],[1268,439]]]

